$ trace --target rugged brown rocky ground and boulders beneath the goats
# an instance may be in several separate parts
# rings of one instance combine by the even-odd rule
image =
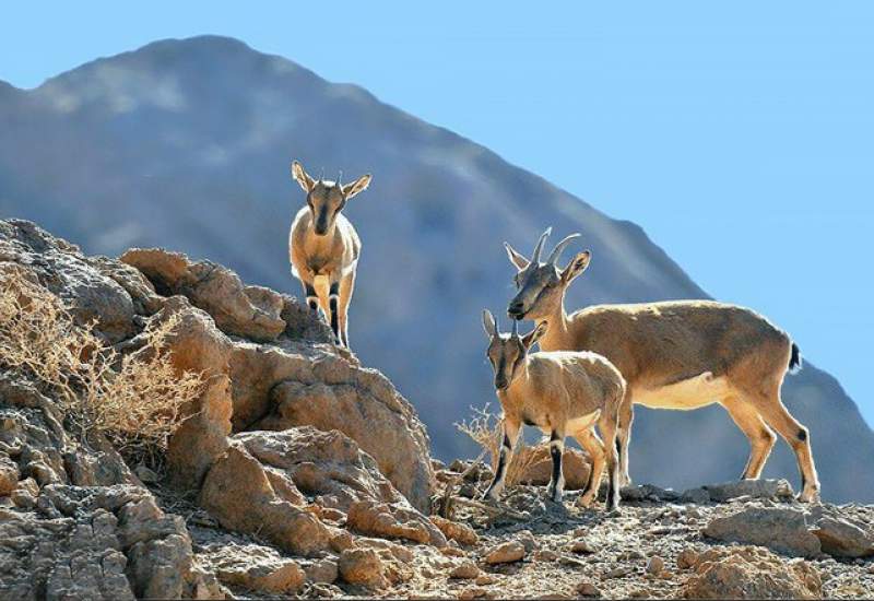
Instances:
[[[0,221],[11,273],[120,353],[173,317],[168,356],[205,384],[154,471],[0,372],[0,599],[874,596],[873,507],[801,505],[784,481],[634,486],[612,515],[542,485],[477,505],[488,469],[432,460],[413,405],[292,297]]]

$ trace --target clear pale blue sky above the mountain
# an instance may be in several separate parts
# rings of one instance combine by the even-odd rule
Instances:
[[[221,34],[447,127],[635,221],[874,423],[872,2],[16,2],[0,79]]]

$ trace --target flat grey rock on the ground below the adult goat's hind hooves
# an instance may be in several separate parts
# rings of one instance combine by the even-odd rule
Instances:
[[[819,539],[807,529],[805,515],[798,509],[747,507],[713,518],[704,533],[720,541],[757,544],[802,557],[815,557],[822,552]]]

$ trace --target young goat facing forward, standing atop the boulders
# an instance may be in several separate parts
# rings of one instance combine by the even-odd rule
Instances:
[[[317,181],[295,161],[292,177],[307,193],[307,205],[295,215],[288,235],[292,274],[304,284],[309,308],[330,316],[334,341],[349,347],[349,304],[362,241],[340,212],[367,188],[370,175],[345,186],[321,178]]]

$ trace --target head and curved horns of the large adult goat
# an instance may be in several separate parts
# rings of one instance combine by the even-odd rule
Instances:
[[[592,255],[588,250],[574,257],[574,260],[563,270],[559,270],[556,264],[562,251],[575,238],[578,238],[579,234],[571,234],[559,241],[546,262],[541,262],[543,243],[551,232],[552,228],[547,228],[541,234],[530,261],[509,244],[504,243],[510,262],[518,270],[513,281],[519,292],[507,306],[507,315],[512,319],[539,320],[555,315],[562,305],[567,286],[589,267]]]

